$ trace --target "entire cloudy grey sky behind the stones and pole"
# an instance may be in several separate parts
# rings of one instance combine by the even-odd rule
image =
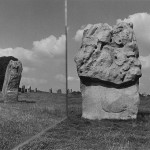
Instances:
[[[83,27],[133,22],[142,63],[140,91],[150,94],[150,1],[68,0],[68,84],[80,90],[74,56]],[[20,86],[65,91],[64,0],[0,0],[0,56],[23,64]]]

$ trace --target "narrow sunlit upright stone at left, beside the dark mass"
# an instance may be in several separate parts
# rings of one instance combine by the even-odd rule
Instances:
[[[5,102],[18,101],[18,88],[21,80],[22,64],[10,60],[5,74],[2,94]]]

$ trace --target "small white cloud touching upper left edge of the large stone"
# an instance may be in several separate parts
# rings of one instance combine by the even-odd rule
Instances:
[[[81,29],[77,30],[74,36],[75,41],[80,42],[82,40],[84,30],[89,29],[91,26],[92,24],[88,24],[87,26],[85,25],[81,26]]]

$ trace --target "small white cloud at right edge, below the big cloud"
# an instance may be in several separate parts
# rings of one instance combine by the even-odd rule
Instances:
[[[150,68],[150,55],[148,55],[148,56],[140,56],[139,59],[141,61],[143,69]]]

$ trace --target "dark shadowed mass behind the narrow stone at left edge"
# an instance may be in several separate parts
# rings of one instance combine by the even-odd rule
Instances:
[[[12,56],[0,57],[0,91],[2,91],[6,68],[10,60],[17,61],[18,59]]]

